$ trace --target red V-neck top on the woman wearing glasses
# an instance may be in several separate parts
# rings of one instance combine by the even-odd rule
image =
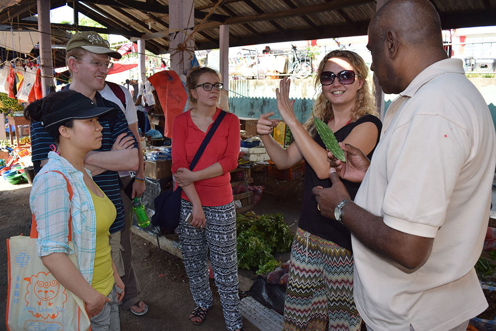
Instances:
[[[220,112],[221,109],[217,108],[212,118],[214,121]],[[206,132],[198,129],[191,120],[190,110],[174,119],[172,130],[172,173],[175,173],[179,168],[189,169],[189,164],[205,135]],[[222,175],[194,182],[194,187],[202,205],[220,206],[233,200],[230,172],[238,166],[239,154],[240,120],[233,113],[227,113],[193,169],[193,171],[199,171],[216,162],[219,162],[222,166]],[[189,201],[184,191],[182,198]]]

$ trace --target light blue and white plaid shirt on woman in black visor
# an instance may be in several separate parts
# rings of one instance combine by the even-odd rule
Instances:
[[[81,172],[54,152],[48,154],[48,159],[48,163],[34,179],[29,199],[37,222],[38,255],[42,257],[52,253],[75,253],[79,271],[91,284],[96,247],[93,200]],[[61,174],[51,170],[58,170],[65,175],[72,187],[72,200],[69,200],[67,183]],[[69,212],[72,216],[74,250],[67,245]]]

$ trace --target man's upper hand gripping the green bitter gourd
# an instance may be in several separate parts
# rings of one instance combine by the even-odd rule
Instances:
[[[340,142],[339,147],[344,151],[346,162],[342,162],[328,152],[327,157],[331,160],[330,166],[336,169],[339,177],[350,182],[361,183],[371,161],[360,149],[350,144]]]

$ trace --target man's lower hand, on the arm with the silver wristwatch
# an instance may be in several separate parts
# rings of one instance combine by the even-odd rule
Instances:
[[[312,193],[315,195],[320,213],[327,218],[335,219],[334,208],[344,199],[350,199],[350,195],[334,168],[329,169],[329,178],[332,182],[330,188],[324,189],[321,186],[317,186],[313,188]]]

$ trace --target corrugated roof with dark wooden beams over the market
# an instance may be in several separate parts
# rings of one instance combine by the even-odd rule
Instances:
[[[65,4],[52,0],[52,8]],[[431,0],[444,29],[496,25],[496,0]],[[194,24],[217,0],[194,1]],[[67,3],[72,6],[72,2]],[[79,11],[107,27],[108,33],[126,37],[168,31],[168,0],[86,0]],[[88,7],[87,7],[87,6]],[[375,12],[374,0],[224,0],[194,36],[198,50],[219,47],[220,24],[230,25],[230,46],[281,41],[338,38],[367,34]],[[0,24],[36,30],[26,18],[37,11],[35,0],[21,0],[0,11]],[[61,29],[94,28],[55,25]],[[169,49],[168,38],[149,39],[146,48],[155,53]]]

